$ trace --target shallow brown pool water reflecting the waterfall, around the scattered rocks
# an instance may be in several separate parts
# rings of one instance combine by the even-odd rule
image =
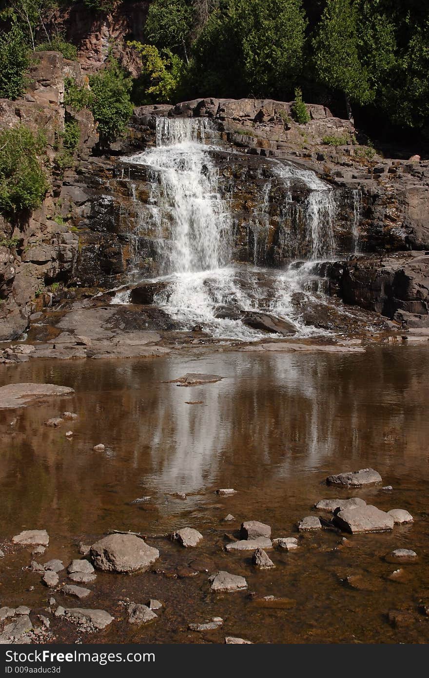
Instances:
[[[429,641],[429,618],[418,609],[429,601],[426,348],[375,346],[342,355],[185,349],[151,360],[39,360],[0,370],[2,385],[49,382],[76,391],[0,410],[3,550],[17,532],[45,528],[50,542],[37,557],[42,563],[60,558],[67,565],[81,557],[79,540],[90,544],[110,530],[152,535],[148,543],[161,553],[158,572],[98,573],[85,601],[54,594],[62,605],[98,607],[115,617],[94,635],[52,618],[58,641],[222,643],[226,635],[253,643]],[[224,379],[189,388],[166,383],[186,372]],[[77,412],[77,421],[43,425],[64,410]],[[69,429],[71,440],[64,435]],[[97,443],[106,450],[94,452]],[[366,466],[392,492],[325,485],[331,473]],[[237,494],[217,496],[218,487]],[[130,503],[143,496],[150,501]],[[385,511],[407,509],[414,523],[350,536],[346,545],[330,530],[298,535],[297,521],[318,515],[314,503],[337,496],[360,496]],[[222,521],[228,513],[236,520]],[[276,567],[262,572],[252,567],[251,552],[226,553],[225,533],[251,519],[270,524],[274,538],[299,536],[299,549],[270,551]],[[204,536],[195,549],[162,536],[186,525]],[[400,565],[384,557],[398,548],[413,549],[419,559],[393,581],[388,576]],[[1,605],[43,612],[49,591],[39,574],[22,569],[31,559],[30,551],[15,548],[0,560]],[[201,570],[202,559],[209,573],[184,576]],[[213,595],[208,576],[218,570],[245,576],[248,590]],[[344,581],[350,575],[361,575],[359,589]],[[289,602],[262,607],[258,597],[265,595]],[[155,623],[128,624],[120,601],[150,597],[165,605]],[[392,625],[390,610],[407,613],[404,621]],[[189,623],[213,616],[224,619],[222,629],[188,631]]]

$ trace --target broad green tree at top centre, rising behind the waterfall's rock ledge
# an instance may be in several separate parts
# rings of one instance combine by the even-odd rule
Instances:
[[[306,25],[301,0],[229,0],[195,42],[195,72],[220,94],[284,94],[302,69]]]

